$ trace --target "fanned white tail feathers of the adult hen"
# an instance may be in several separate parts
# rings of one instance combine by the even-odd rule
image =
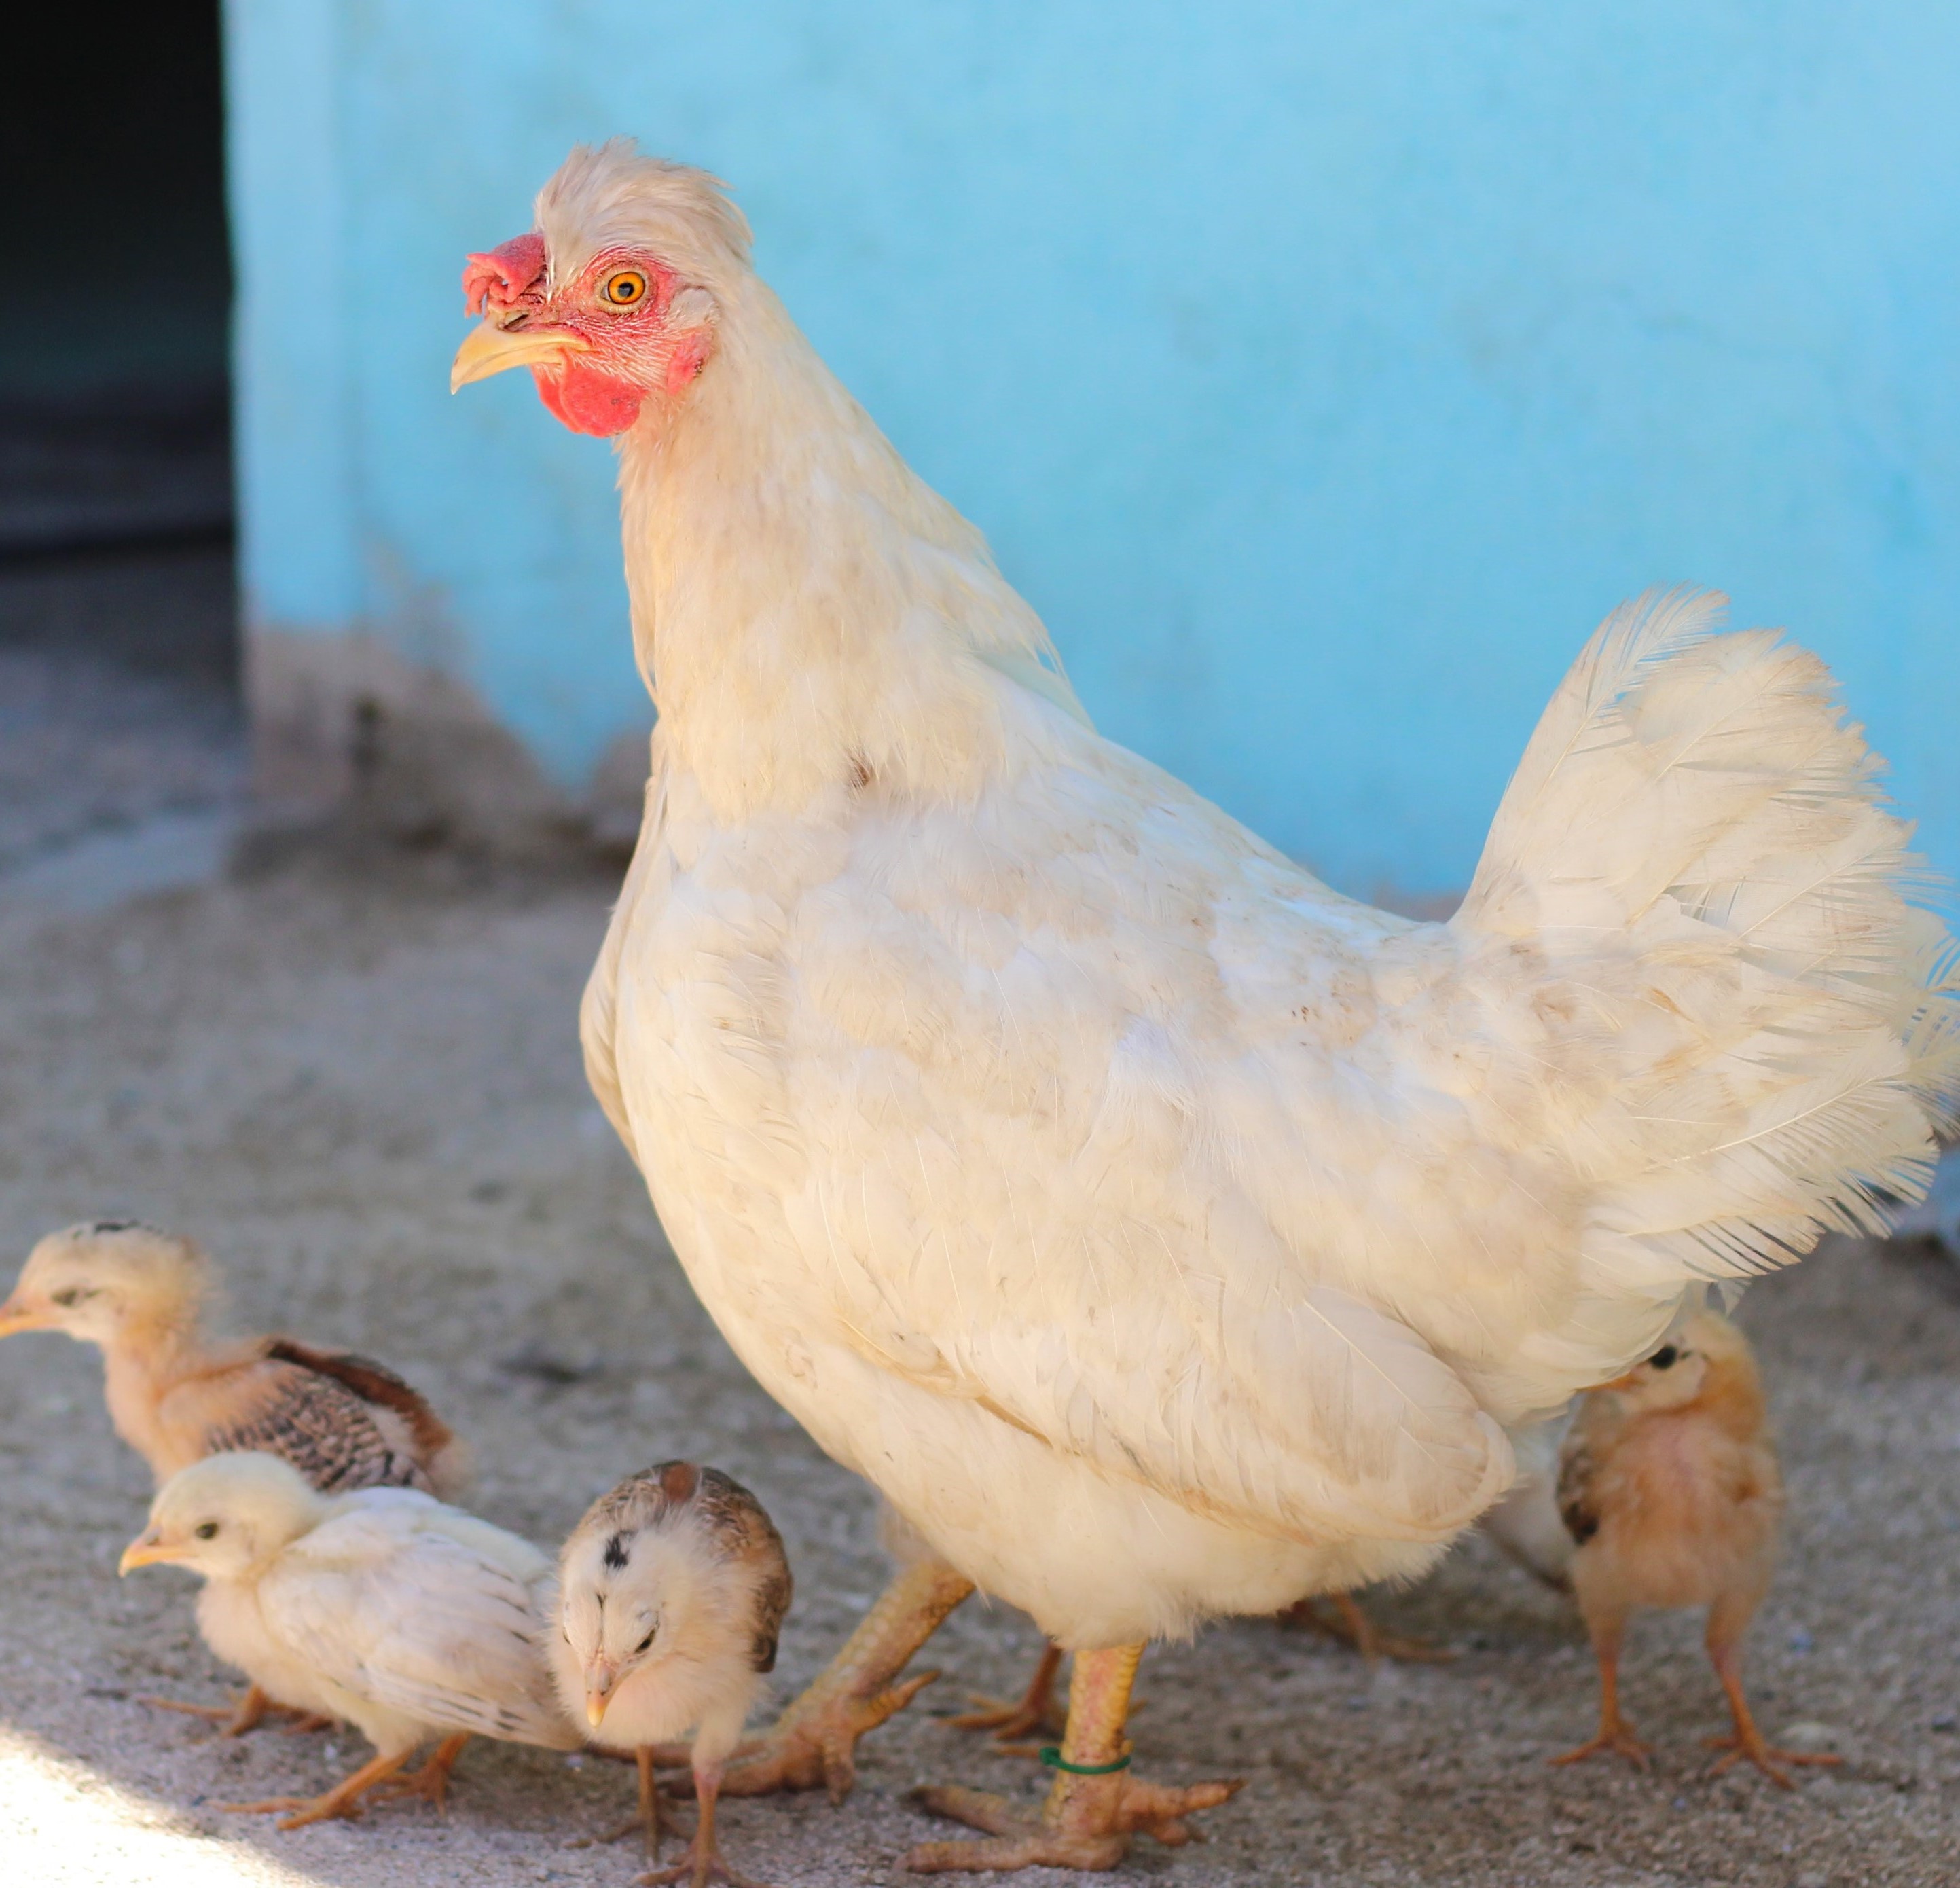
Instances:
[[[1570,1012],[1552,1035],[1611,1070],[1568,1112],[1595,1317],[1884,1229],[1960,1098],[1940,882],[1823,663],[1723,631],[1725,604],[1648,592],[1605,620],[1452,921],[1533,959]]]

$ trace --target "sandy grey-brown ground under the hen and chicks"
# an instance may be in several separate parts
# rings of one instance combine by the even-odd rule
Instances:
[[[184,725],[184,741],[208,743],[196,716]],[[155,776],[182,767],[159,755]],[[227,767],[220,755],[167,804],[129,788],[100,818],[141,849],[172,816],[221,810]],[[74,804],[65,790],[63,843]],[[241,1325],[404,1368],[472,1439],[474,1506],[545,1543],[645,1461],[723,1465],[788,1539],[782,1694],[808,1678],[884,1576],[872,1500],[735,1365],[584,1092],[574,1004],[606,878],[259,849],[243,876],[116,904],[100,882],[76,894],[47,876],[59,847],[37,849],[20,820],[6,837],[41,876],[0,876],[0,1261],[80,1216],[133,1212],[198,1235]],[[1791,1794],[1752,1774],[1709,1782],[1699,1739],[1723,1727],[1721,1698],[1697,1623],[1660,1615],[1629,1661],[1654,1770],[1548,1770],[1592,1725],[1590,1657],[1568,1606],[1472,1539],[1376,1606],[1456,1647],[1452,1664],[1370,1676],[1264,1621],[1154,1651],[1141,1763],[1249,1786],[1209,1817],[1207,1847],[1141,1843],[1109,1880],[1960,1880],[1960,1274],[1835,1245],[1760,1286],[1742,1316],[1793,1496],[1754,1690],[1772,1737],[1842,1751],[1842,1770]],[[280,1835],[220,1813],[227,1798],[318,1790],[365,1753],[351,1733],[225,1743],[135,1702],[218,1700],[227,1684],[194,1635],[186,1578],[116,1580],[147,1492],[110,1433],[90,1351],[53,1335],[0,1347],[0,1815],[16,1878],[633,1878],[625,1851],[574,1847],[629,1798],[602,1761],[476,1745],[447,1817],[384,1806]],[[735,1804],[735,1863],[778,1888],[907,1880],[907,1843],[945,1833],[906,1802],[913,1784],[1033,1802],[1033,1764],[935,1714],[1017,1686],[1035,1647],[1019,1615],[966,1606],[931,1651],[943,1680],[860,1747],[857,1796],[843,1810]]]

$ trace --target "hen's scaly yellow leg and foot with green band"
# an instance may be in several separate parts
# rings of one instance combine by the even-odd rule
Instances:
[[[1129,1774],[1129,1694],[1137,1680],[1141,1645],[1076,1653],[1068,1686],[1068,1731],[1054,1786],[1041,1806],[1041,1821],[1025,1821],[1004,1796],[984,1790],[921,1790],[917,1800],[937,1815],[951,1815],[992,1841],[919,1843],[906,1859],[915,1874],[984,1868],[1113,1868],[1143,1829],[1160,1843],[1180,1847],[1198,1837],[1186,1821],[1213,1810],[1245,1788],[1233,1782],[1192,1784],[1174,1790],[1139,1782]]]

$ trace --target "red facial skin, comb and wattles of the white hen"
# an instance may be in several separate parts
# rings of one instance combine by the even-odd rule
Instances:
[[[647,294],[631,308],[600,298],[600,286],[621,269],[647,278]],[[545,276],[545,239],[517,235],[468,259],[463,300],[470,314],[494,316],[504,327],[563,331],[586,343],[563,367],[531,369],[539,398],[574,433],[600,439],[623,433],[649,394],[678,398],[713,355],[711,325],[670,325],[674,296],[688,284],[651,255],[608,249],[557,290],[547,288]]]

